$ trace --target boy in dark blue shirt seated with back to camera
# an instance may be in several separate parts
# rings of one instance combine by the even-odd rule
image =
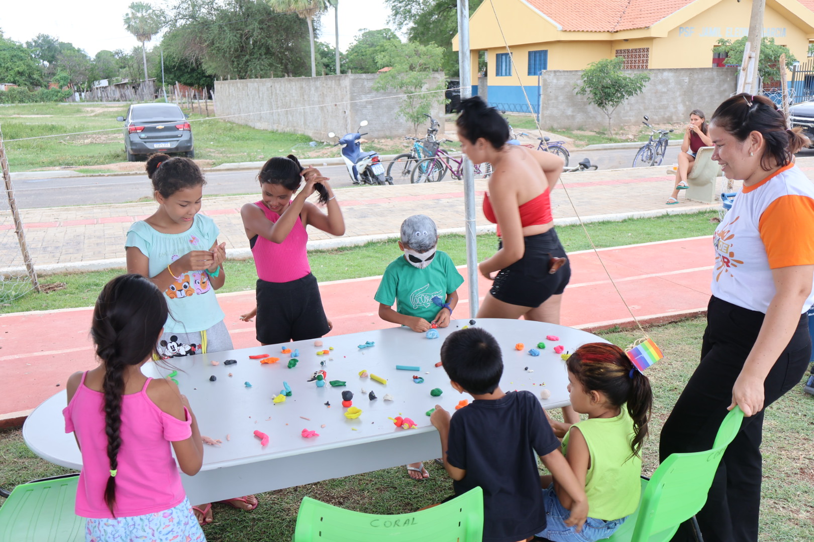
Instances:
[[[545,527],[536,455],[574,500],[568,525],[581,529],[588,499],[560,452],[560,443],[532,392],[504,393],[497,340],[480,327],[450,334],[441,362],[453,388],[475,401],[450,417],[435,405],[430,421],[438,429],[444,469],[456,495],[484,490],[484,542],[526,540]]]

